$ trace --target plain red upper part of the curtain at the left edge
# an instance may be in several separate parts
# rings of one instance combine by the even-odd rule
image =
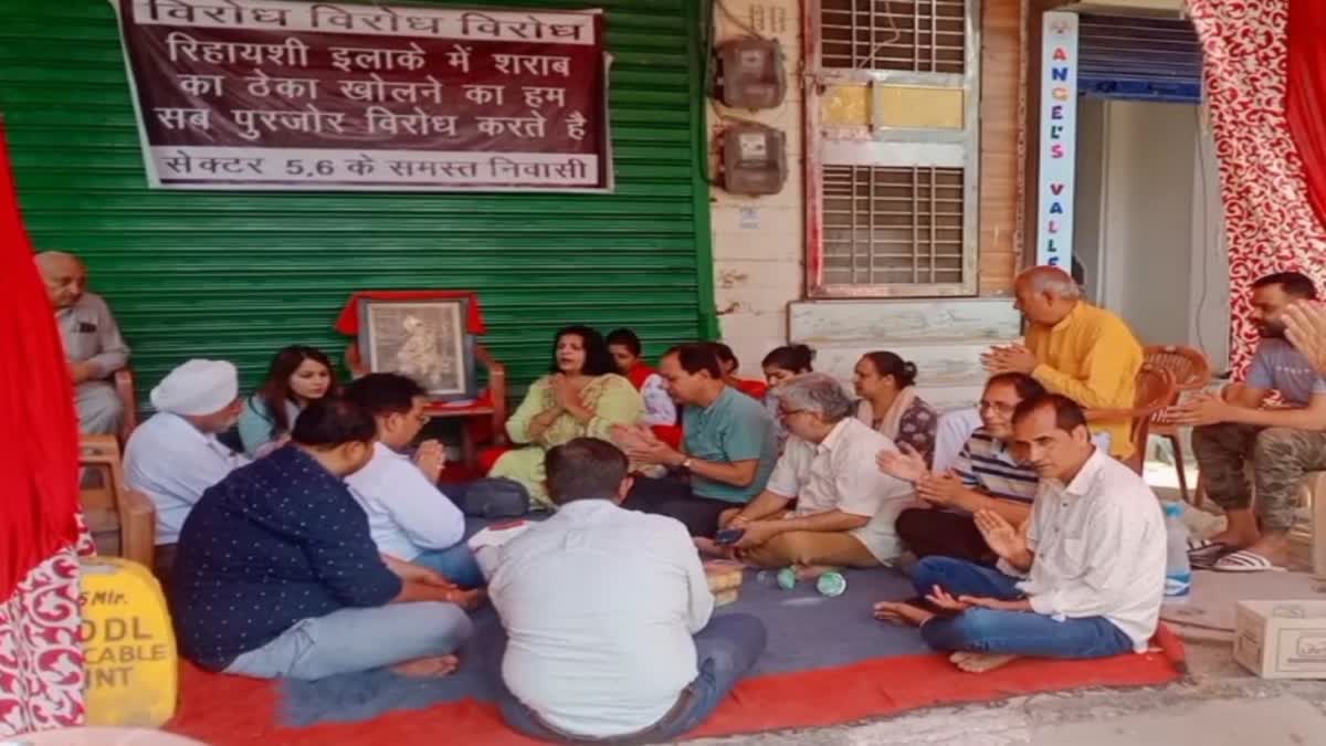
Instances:
[[[78,422],[0,121],[0,600],[78,539]]]

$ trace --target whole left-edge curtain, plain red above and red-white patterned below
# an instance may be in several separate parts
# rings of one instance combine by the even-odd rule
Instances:
[[[84,721],[78,425],[0,127],[0,738]]]

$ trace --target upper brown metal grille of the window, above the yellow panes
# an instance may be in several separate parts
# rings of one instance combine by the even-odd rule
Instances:
[[[967,0],[821,0],[821,64],[963,73],[965,29]]]

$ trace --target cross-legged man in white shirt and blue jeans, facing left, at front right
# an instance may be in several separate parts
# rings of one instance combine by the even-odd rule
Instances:
[[[1086,418],[1059,394],[1013,414],[1014,446],[1041,475],[1025,532],[993,511],[976,523],[998,568],[926,558],[912,571],[931,607],[875,604],[875,616],[920,627],[964,670],[1017,656],[1098,658],[1143,652],[1164,593],[1160,503],[1140,477],[1091,445]]]

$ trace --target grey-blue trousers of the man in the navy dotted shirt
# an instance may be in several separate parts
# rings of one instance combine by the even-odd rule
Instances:
[[[235,658],[225,673],[312,681],[446,656],[472,632],[469,617],[455,604],[419,601],[341,609],[297,621],[276,640]]]

